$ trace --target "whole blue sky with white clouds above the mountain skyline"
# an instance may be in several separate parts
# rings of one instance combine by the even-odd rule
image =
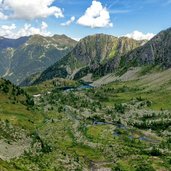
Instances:
[[[0,36],[104,33],[151,39],[171,27],[171,0],[0,0]]]

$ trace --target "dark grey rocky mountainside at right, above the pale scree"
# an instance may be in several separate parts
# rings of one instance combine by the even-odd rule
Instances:
[[[144,43],[143,46],[103,63],[92,72],[92,77],[98,79],[110,73],[120,77],[132,67],[147,66],[147,73],[157,66],[161,69],[168,69],[171,67],[170,49],[171,29],[167,29]]]

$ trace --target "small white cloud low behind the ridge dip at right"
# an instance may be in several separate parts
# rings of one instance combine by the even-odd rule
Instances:
[[[140,31],[133,31],[132,33],[126,34],[125,37],[129,37],[135,40],[150,40],[155,36],[153,33],[144,34]]]

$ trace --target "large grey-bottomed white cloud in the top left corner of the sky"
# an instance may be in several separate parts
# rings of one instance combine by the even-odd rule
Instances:
[[[1,1],[3,12],[10,13],[9,18],[31,20],[35,18],[46,18],[54,15],[63,17],[63,11],[52,6],[55,0],[4,0]],[[4,13],[0,14],[3,16]],[[5,16],[5,15],[4,15]]]

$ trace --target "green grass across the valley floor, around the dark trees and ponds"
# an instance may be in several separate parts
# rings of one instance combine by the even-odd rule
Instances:
[[[54,89],[51,83],[24,89],[30,94],[38,94]],[[77,83],[66,81],[59,86],[68,84]],[[165,86],[170,86],[170,83]],[[61,171],[83,170],[89,168],[90,162],[94,162],[113,170],[169,171],[169,153],[160,156],[152,156],[150,153],[150,148],[154,146],[170,150],[165,132],[138,129],[128,121],[142,121],[144,115],[136,116],[135,113],[132,113],[132,116],[128,115],[127,108],[124,113],[117,112],[115,104],[128,105],[133,99],[137,102],[147,100],[152,102],[150,106],[142,107],[147,111],[171,110],[171,91],[160,88],[149,90],[145,82],[142,84],[142,80],[114,82],[100,88],[69,93],[53,91],[53,94],[43,97],[43,101],[38,106],[39,110],[36,104],[30,108],[20,101],[13,104],[14,100],[9,99],[9,94],[2,93],[0,119],[8,120],[14,127],[25,129],[32,135],[34,143],[31,151],[24,156],[13,159],[10,163],[0,160],[0,170],[55,171],[54,168]],[[53,109],[45,112],[46,105],[50,105]],[[63,108],[59,111],[60,106]],[[117,124],[94,125],[93,118],[98,118],[95,116],[103,119],[104,122],[117,121],[124,124],[126,128],[119,128]],[[154,118],[147,117],[144,120],[151,121],[164,117],[165,115],[160,118],[155,115]],[[114,135],[116,131],[119,132],[119,136]],[[135,138],[129,139],[130,135]],[[139,137],[145,135],[159,142],[140,141]],[[160,143],[161,140],[163,142]],[[41,144],[44,148],[51,147],[51,150],[43,152]]]

